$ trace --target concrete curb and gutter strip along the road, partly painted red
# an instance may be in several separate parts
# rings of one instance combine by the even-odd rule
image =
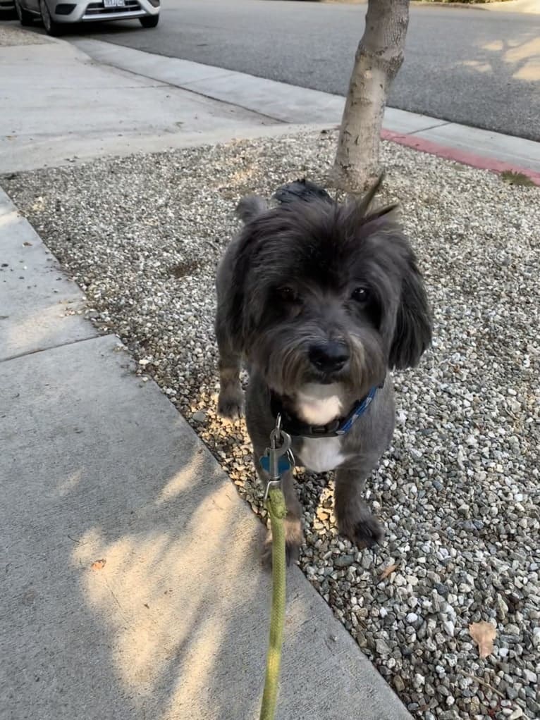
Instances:
[[[294,125],[338,125],[345,100],[246,73],[167,58],[99,40],[78,40],[91,58]],[[540,143],[388,107],[383,138],[473,167],[540,179]]]

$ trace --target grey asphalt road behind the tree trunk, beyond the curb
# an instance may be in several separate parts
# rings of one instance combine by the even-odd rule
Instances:
[[[93,37],[346,94],[365,5],[164,0],[156,30],[102,24]],[[540,140],[540,15],[413,6],[389,105]]]

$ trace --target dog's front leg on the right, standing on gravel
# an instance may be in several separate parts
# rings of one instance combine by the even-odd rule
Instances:
[[[340,467],[336,470],[335,510],[338,529],[358,547],[380,543],[384,531],[372,516],[361,495],[366,474],[362,469]]]

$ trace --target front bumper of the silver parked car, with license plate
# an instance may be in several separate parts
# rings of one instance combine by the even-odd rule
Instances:
[[[103,0],[70,3],[48,0],[50,14],[55,22],[96,22],[99,20],[129,20],[145,15],[157,15],[158,0],[124,0],[121,7],[105,7]]]

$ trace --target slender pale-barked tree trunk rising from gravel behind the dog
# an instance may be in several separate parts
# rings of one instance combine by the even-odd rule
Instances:
[[[333,185],[348,193],[364,192],[380,173],[382,116],[408,24],[409,0],[369,0],[332,171]]]

